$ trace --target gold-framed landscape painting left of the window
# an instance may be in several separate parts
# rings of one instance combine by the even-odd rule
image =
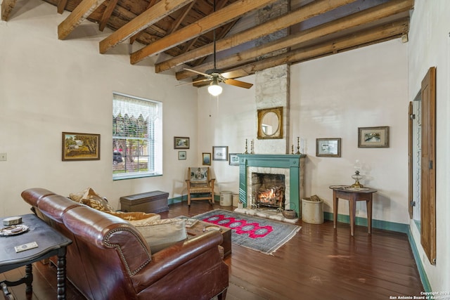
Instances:
[[[62,142],[64,161],[100,159],[100,134],[63,132]]]

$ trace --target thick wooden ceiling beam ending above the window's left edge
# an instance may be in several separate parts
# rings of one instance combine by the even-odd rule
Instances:
[[[100,42],[100,53],[106,53],[110,48],[113,48],[122,41],[128,39],[136,32],[150,27],[165,16],[179,10],[179,8],[190,4],[193,0],[162,0],[149,8],[147,11],[141,13],[127,24],[120,27],[118,30],[110,34],[109,37]]]

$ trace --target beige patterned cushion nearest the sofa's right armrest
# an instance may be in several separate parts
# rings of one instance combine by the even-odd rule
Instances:
[[[136,229],[146,239],[152,253],[188,238],[184,219],[162,219],[146,226],[136,226]]]

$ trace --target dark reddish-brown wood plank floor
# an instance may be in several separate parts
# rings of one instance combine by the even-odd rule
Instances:
[[[233,209],[220,207],[214,209]],[[188,209],[186,202],[174,204],[161,213],[163,219],[195,216],[212,209],[198,201]],[[415,296],[423,291],[416,262],[403,233],[356,226],[350,236],[347,223],[325,221],[320,225],[302,223],[295,237],[269,256],[233,244],[229,265],[228,300],[244,299],[390,299],[390,296]],[[33,294],[28,299],[56,299],[56,268],[34,263]],[[25,268],[0,274],[16,280]],[[16,299],[25,297],[25,286],[11,287]],[[68,284],[68,299],[84,299]],[[182,297],[180,297],[182,299]]]

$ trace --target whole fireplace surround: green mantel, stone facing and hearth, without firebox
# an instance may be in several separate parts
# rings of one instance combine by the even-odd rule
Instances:
[[[243,209],[236,211],[295,223],[301,216],[300,199],[304,191],[304,157],[306,155],[255,155],[240,154],[239,157],[239,201]],[[283,174],[285,176],[285,209],[297,212],[297,219],[285,219],[276,209],[254,209],[252,173]]]

